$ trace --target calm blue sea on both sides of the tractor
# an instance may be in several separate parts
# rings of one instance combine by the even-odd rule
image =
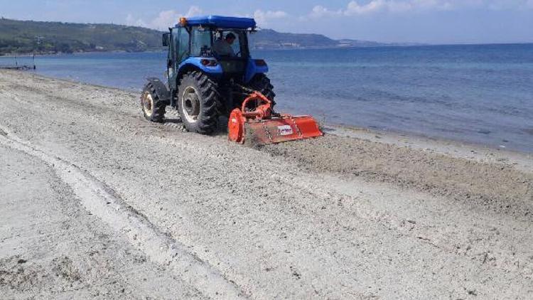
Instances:
[[[255,51],[279,110],[533,152],[533,44]],[[38,73],[139,90],[166,53],[36,58]],[[0,58],[2,61],[9,58]],[[11,58],[12,60],[12,58]]]

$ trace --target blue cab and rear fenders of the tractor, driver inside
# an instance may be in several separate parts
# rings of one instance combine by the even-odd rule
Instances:
[[[249,53],[248,33],[255,29],[252,18],[181,18],[163,36],[163,45],[168,46],[168,82],[171,86],[178,83],[179,76],[190,68],[199,68],[216,80],[244,84],[254,75],[268,72],[264,60],[252,60]]]

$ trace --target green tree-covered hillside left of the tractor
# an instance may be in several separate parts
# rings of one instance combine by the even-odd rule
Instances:
[[[161,49],[161,32],[147,28],[0,19],[0,53],[151,49]]]

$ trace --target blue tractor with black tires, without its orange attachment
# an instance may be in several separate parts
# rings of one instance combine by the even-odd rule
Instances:
[[[148,78],[141,95],[144,117],[163,122],[170,106],[189,132],[211,134],[219,117],[242,105],[250,90],[274,105],[273,86],[265,75],[269,68],[249,53],[248,33],[255,30],[253,18],[181,18],[163,34],[167,82]]]

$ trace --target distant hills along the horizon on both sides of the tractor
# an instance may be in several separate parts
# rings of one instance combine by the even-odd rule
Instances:
[[[333,40],[321,34],[280,33],[263,29],[250,35],[250,48],[371,47],[372,41]],[[0,18],[0,55],[6,53],[75,53],[159,50],[161,31],[148,28],[61,22],[16,21]]]

